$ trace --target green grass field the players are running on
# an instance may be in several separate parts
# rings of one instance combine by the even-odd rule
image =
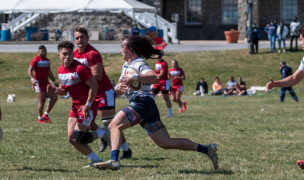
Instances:
[[[266,50],[265,50],[266,51]],[[220,167],[214,171],[210,160],[197,152],[163,150],[146,136],[140,126],[125,131],[133,157],[121,161],[117,172],[82,169],[88,160],[67,141],[67,118],[70,99],[60,99],[51,112],[52,124],[38,124],[35,95],[31,89],[1,91],[3,112],[0,141],[0,178],[2,179],[302,179],[296,166],[303,157],[304,93],[297,92],[295,103],[287,94],[279,103],[279,89],[269,94],[247,97],[191,96],[196,82],[204,77],[211,88],[219,75],[226,83],[229,76],[242,76],[250,86],[264,86],[269,77],[279,79],[279,62],[285,60],[294,71],[303,52],[248,56],[247,50],[202,53],[167,54],[165,59],[177,59],[186,73],[183,100],[188,108],[178,114],[173,104],[174,118],[162,119],[172,137],[187,137],[193,141],[218,144]],[[33,53],[0,54],[0,90],[30,86],[26,70]],[[60,64],[56,54],[49,54],[55,74]],[[121,56],[103,55],[107,74],[118,79]],[[149,60],[152,65],[155,61]],[[154,67],[154,65],[152,65]],[[304,90],[303,83],[294,87]],[[17,103],[6,103],[7,94],[15,93]],[[161,116],[166,106],[162,98],[156,103]],[[117,108],[128,104],[117,99]],[[261,109],[265,109],[261,111]],[[101,124],[97,118],[96,122]],[[99,142],[91,144],[97,152]],[[107,160],[110,149],[98,153]]]

